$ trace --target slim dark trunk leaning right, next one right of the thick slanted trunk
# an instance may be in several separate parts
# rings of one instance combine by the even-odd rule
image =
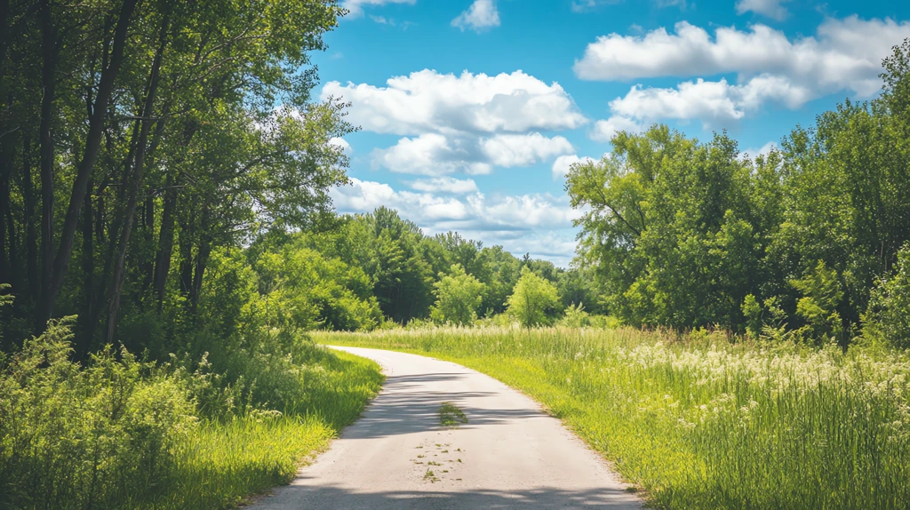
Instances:
[[[114,273],[111,275],[111,306],[110,312],[107,315],[107,330],[105,335],[105,342],[107,344],[113,343],[114,334],[116,333],[116,319],[117,314],[120,311],[120,294],[123,290],[123,278],[126,271],[126,250],[129,247],[129,236],[132,233],[133,225],[135,223],[134,218],[136,216],[136,202],[138,201],[139,188],[142,185],[143,175],[145,172],[148,132],[151,130],[153,124],[151,115],[154,113],[155,96],[157,94],[161,71],[161,61],[164,58],[165,48],[167,47],[167,33],[169,29],[170,20],[169,16],[166,15],[165,19],[161,22],[158,47],[155,53],[155,59],[152,62],[152,69],[148,79],[146,104],[142,108],[142,129],[139,132],[139,141],[136,145],[136,161],[133,165],[133,174],[132,178],[130,179],[129,190],[127,191],[128,198],[126,202],[126,220],[123,224],[123,233],[120,235],[118,254],[114,264]],[[158,122],[160,124],[158,125],[159,127],[156,133],[156,139],[158,139],[158,136],[164,130],[165,120],[161,119]],[[155,145],[157,145],[157,141]]]

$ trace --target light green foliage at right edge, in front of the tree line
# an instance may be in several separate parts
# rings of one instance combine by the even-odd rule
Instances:
[[[894,270],[875,285],[863,315],[863,335],[878,344],[910,347],[910,245],[898,252]]]

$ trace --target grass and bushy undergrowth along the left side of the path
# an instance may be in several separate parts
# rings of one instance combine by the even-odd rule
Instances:
[[[81,366],[68,324],[0,354],[0,508],[234,507],[287,483],[382,380],[306,340],[297,357],[247,353],[230,382],[126,350]]]

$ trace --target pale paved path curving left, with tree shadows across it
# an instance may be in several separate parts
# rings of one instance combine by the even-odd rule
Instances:
[[[559,420],[499,381],[424,356],[339,349],[379,363],[382,392],[316,463],[253,508],[642,507]],[[440,427],[443,402],[469,423]]]

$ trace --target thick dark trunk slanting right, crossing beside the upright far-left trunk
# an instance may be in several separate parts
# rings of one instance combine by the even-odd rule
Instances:
[[[111,93],[114,90],[116,75],[120,71],[120,65],[123,64],[126,33],[133,18],[133,11],[136,9],[138,2],[139,0],[124,0],[123,4],[120,6],[120,13],[117,16],[114,39],[111,43],[111,55],[107,62],[107,66],[101,72],[101,79],[98,82],[98,92],[94,109],[92,110],[92,116],[88,121],[88,135],[86,135],[85,150],[83,151],[82,162],[78,167],[76,179],[73,182],[73,192],[70,195],[69,207],[66,210],[66,217],[64,218],[63,231],[60,235],[60,245],[57,248],[54,265],[51,270],[52,276],[50,286],[47,289],[48,292],[42,296],[41,303],[38,306],[39,320],[43,319],[45,322],[47,318],[50,318],[56,296],[63,286],[63,279],[66,275],[66,266],[69,265],[70,255],[73,254],[73,240],[76,236],[79,209],[82,207],[86,195],[88,178],[92,174],[101,148],[101,135],[103,134],[105,116],[107,115],[107,104],[110,101]]]

